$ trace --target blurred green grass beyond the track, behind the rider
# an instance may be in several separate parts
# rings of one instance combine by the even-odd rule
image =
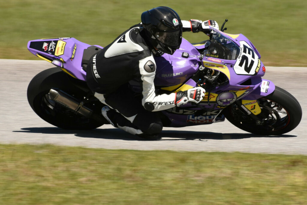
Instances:
[[[227,32],[246,35],[267,66],[307,67],[307,1],[0,0],[0,5],[0,58],[38,60],[26,45],[39,38],[75,37],[106,46],[140,22],[143,11],[163,5],[185,20],[214,19],[222,26],[228,18]],[[184,37],[191,42],[207,38],[192,33]]]

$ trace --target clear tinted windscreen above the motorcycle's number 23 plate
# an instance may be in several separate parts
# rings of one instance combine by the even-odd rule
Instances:
[[[206,56],[213,56],[225,60],[236,60],[240,53],[240,47],[223,34],[214,34]]]

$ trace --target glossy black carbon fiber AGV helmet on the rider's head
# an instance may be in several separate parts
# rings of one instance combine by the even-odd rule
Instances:
[[[159,6],[141,15],[143,28],[150,44],[158,50],[173,54],[182,41],[182,23],[171,8]]]

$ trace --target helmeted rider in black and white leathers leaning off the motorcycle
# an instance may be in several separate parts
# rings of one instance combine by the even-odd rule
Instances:
[[[87,84],[103,104],[102,115],[114,126],[139,136],[156,136],[162,131],[157,112],[188,102],[199,103],[205,90],[194,87],[177,93],[157,95],[153,83],[154,56],[172,55],[180,47],[182,31],[209,33],[215,21],[181,21],[169,7],[159,6],[141,15],[142,23],[132,26],[96,53],[87,67]],[[129,89],[137,80],[142,100]]]

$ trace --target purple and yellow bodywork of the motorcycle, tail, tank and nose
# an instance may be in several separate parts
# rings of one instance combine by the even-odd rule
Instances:
[[[229,104],[239,99],[256,100],[269,95],[275,89],[273,82],[262,79],[265,67],[260,60],[261,56],[244,35],[212,30],[216,34],[211,38],[209,45],[207,43],[206,48],[205,44],[194,46],[182,39],[180,48],[173,55],[163,54],[155,57],[157,69],[154,84],[157,89],[164,90],[165,93],[174,92],[182,85],[185,89],[199,86],[197,80],[191,78],[203,68],[219,71],[229,81],[215,87],[210,91],[210,95],[209,93],[206,95],[200,102],[203,110],[188,103],[179,108],[162,111],[170,121],[166,127],[185,127],[223,121],[224,116],[221,111]],[[86,72],[82,69],[84,49],[90,46],[75,38],[39,39],[28,42],[31,53],[61,67],[63,71],[82,81],[86,80]],[[223,52],[219,52],[221,50],[218,47],[223,48]],[[199,53],[202,50],[204,52]]]

